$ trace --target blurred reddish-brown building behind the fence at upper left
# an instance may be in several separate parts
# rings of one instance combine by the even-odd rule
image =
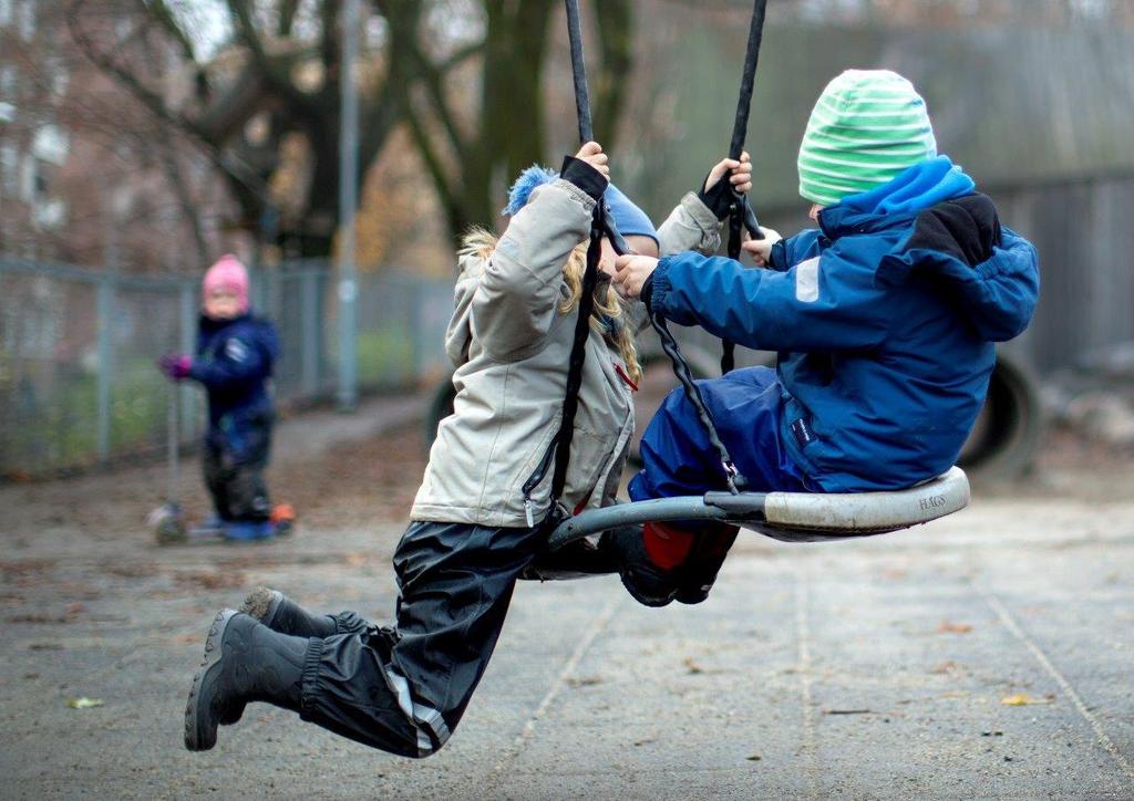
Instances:
[[[0,254],[198,271],[223,246],[230,203],[200,148],[85,58],[73,7],[0,0]],[[110,5],[86,7],[130,34]],[[164,79],[169,46],[147,41],[139,70],[167,93],[180,90]]]

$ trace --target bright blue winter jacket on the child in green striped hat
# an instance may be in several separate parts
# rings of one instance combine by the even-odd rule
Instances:
[[[651,304],[779,351],[780,438],[823,491],[939,475],[984,402],[992,343],[1031,319],[1035,249],[946,156],[823,210],[819,224],[778,242],[770,270],[667,257]]]

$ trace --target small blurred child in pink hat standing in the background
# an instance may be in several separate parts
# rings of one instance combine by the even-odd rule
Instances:
[[[160,364],[174,381],[198,381],[209,394],[205,486],[230,539],[274,534],[263,472],[274,419],[268,381],[278,356],[274,326],[248,309],[247,270],[222,256],[202,284],[196,358],[170,355]]]

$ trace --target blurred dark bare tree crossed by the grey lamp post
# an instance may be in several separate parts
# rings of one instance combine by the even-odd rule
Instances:
[[[299,255],[325,255],[339,218],[340,5],[322,0],[305,11],[294,0],[270,8],[226,0],[230,42],[212,57],[164,0],[71,0],[67,19],[94,65],[210,157],[239,205],[239,225]],[[176,57],[172,68],[154,63],[155,41],[175,45],[163,51]],[[384,80],[361,95],[363,164],[397,122],[389,95]],[[305,143],[306,174],[289,184],[302,187],[291,204],[298,213],[281,218],[272,182],[295,167],[282,147],[293,135]]]

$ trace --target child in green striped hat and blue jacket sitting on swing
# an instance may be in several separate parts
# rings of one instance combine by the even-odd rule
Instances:
[[[779,352],[779,365],[700,382],[753,492],[908,487],[957,459],[988,390],[993,342],[1027,326],[1035,249],[1002,228],[973,180],[938,155],[925,103],[887,70],[823,90],[798,157],[818,229],[764,229],[744,249],[767,270],[683,253],[618,261],[616,286],[667,319]],[[642,440],[631,497],[725,486],[682,390]],[[650,523],[611,532],[640,602],[706,597],[736,529]]]

